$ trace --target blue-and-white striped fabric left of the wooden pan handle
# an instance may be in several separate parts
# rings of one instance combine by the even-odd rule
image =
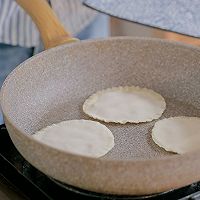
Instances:
[[[39,42],[31,18],[13,0],[0,0],[0,42],[26,47]]]

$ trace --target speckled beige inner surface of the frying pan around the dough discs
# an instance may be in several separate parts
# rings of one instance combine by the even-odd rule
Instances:
[[[89,119],[82,111],[82,104],[98,90],[138,85],[163,95],[167,109],[162,117],[200,116],[200,70],[196,68],[199,52],[194,50],[188,56],[188,49],[163,45],[130,39],[83,42],[82,49],[77,45],[80,54],[76,48],[63,46],[56,53],[38,55],[22,64],[27,66],[18,69],[16,77],[8,80],[10,91],[18,85],[15,99],[11,98],[12,93],[6,94],[10,104],[17,105],[9,110],[9,115],[26,133],[32,134],[61,120]],[[17,79],[22,74],[27,78]],[[148,159],[173,155],[153,143],[150,134],[154,123],[104,123],[113,132],[116,143],[105,158]]]

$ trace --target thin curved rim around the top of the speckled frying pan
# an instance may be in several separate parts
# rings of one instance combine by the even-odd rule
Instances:
[[[64,150],[60,150],[57,148],[54,148],[52,146],[46,145],[40,141],[35,140],[31,135],[26,134],[21,128],[19,128],[16,123],[12,120],[11,117],[9,117],[9,115],[6,113],[6,106],[4,106],[5,104],[5,98],[4,98],[4,90],[6,90],[6,85],[8,84],[9,80],[13,77],[13,74],[15,74],[18,70],[20,70],[24,64],[28,63],[30,60],[35,59],[39,56],[44,56],[45,54],[48,54],[49,52],[53,52],[53,51],[57,51],[58,49],[64,49],[66,47],[71,47],[71,46],[76,46],[76,45],[80,45],[81,44],[89,44],[89,43],[94,43],[94,42],[105,42],[105,41],[121,41],[121,40],[143,40],[143,41],[155,41],[155,42],[161,42],[164,44],[172,44],[172,45],[178,45],[180,47],[186,47],[189,48],[191,50],[197,50],[200,53],[200,48],[197,46],[193,46],[190,44],[184,44],[182,42],[178,42],[178,41],[171,41],[171,40],[166,40],[166,39],[159,39],[159,38],[150,38],[150,37],[134,37],[134,36],[118,36],[118,37],[108,37],[108,38],[100,38],[100,39],[89,39],[89,40],[83,40],[83,41],[79,41],[79,42],[75,42],[75,43],[70,43],[70,44],[62,44],[59,45],[57,47],[53,47],[51,49],[47,49],[43,52],[40,52],[39,54],[25,60],[24,62],[22,62],[20,65],[18,65],[6,78],[6,80],[4,81],[1,90],[0,90],[0,104],[1,104],[1,109],[3,112],[3,116],[6,119],[6,123],[9,122],[9,124],[14,127],[16,129],[15,134],[18,134],[21,136],[21,134],[23,134],[24,137],[26,137],[28,140],[30,141],[34,141],[35,143],[39,143],[40,145],[44,146],[45,148],[49,148],[53,151],[56,151],[58,153],[64,153],[66,155],[69,156],[73,156],[73,157],[77,157],[77,158],[81,158],[81,159],[88,159],[90,161],[98,161],[98,162],[106,162],[107,164],[110,163],[115,163],[117,165],[119,165],[119,163],[123,163],[123,164],[145,164],[145,163],[157,163],[159,161],[173,161],[174,159],[186,159],[189,158],[191,156],[195,156],[196,154],[200,153],[200,150],[197,151],[193,151],[193,152],[189,152],[189,153],[185,153],[185,154],[174,154],[174,155],[170,155],[170,156],[163,156],[163,157],[158,157],[158,158],[150,158],[150,159],[134,159],[134,160],[124,160],[124,159],[104,159],[104,158],[93,158],[93,157],[89,157],[89,156],[84,156],[84,155],[78,155],[78,154],[74,154],[71,152],[67,152]],[[5,124],[6,124],[5,123]]]

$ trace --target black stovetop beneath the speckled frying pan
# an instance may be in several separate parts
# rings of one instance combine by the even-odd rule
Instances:
[[[200,182],[148,196],[103,195],[60,183],[38,171],[19,154],[4,125],[0,125],[0,173],[28,199],[200,199]]]

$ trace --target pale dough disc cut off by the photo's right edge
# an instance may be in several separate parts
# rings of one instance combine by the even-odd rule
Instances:
[[[166,151],[179,154],[200,150],[200,118],[171,117],[155,123],[153,141]]]

